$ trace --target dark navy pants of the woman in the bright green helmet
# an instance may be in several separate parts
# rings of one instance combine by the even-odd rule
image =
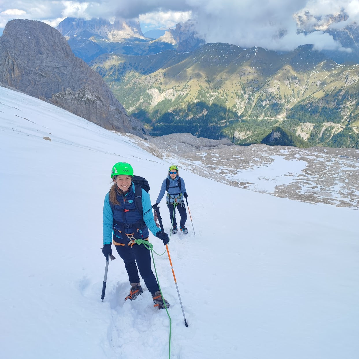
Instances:
[[[151,294],[155,294],[158,290],[158,283],[151,269],[150,251],[143,244],[134,244],[130,246],[115,246],[117,253],[123,259],[130,283],[139,283],[137,267],[140,275],[144,280],[147,289]],[[137,263],[137,265],[136,265]]]

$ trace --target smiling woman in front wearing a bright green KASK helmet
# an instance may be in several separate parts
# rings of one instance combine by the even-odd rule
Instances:
[[[143,293],[138,275],[140,271],[146,287],[152,294],[155,307],[168,308],[167,300],[163,303],[156,277],[151,269],[150,251],[144,244],[134,242],[134,239],[148,241],[150,230],[166,245],[169,241],[168,235],[157,227],[152,214],[150,196],[143,188],[139,188],[142,210],[138,209],[139,203],[137,202],[136,205],[136,188],[132,177],[133,169],[130,164],[118,162],[112,167],[111,178],[114,183],[106,194],[103,204],[102,253],[108,260],[109,255],[112,254],[112,242],[125,263],[131,284],[130,294],[125,300],[134,300]]]

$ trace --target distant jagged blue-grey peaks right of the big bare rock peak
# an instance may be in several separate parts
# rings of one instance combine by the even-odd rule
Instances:
[[[90,62],[103,53],[150,55],[165,50],[193,51],[204,44],[196,35],[192,20],[168,29],[157,39],[146,38],[138,21],[66,18],[56,27],[65,36],[76,56]]]

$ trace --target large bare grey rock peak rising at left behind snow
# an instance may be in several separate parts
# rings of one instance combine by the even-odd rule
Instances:
[[[148,134],[140,121],[127,116],[101,75],[45,23],[16,19],[6,24],[0,37],[0,83],[108,130]]]

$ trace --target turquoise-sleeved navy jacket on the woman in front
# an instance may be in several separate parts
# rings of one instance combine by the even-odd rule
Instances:
[[[120,198],[122,198],[122,196],[120,196]],[[131,186],[129,188],[129,191],[126,193],[125,195],[125,199],[126,199],[126,203],[125,203],[125,208],[135,208],[135,185],[132,182]],[[142,188],[142,208],[143,208],[143,220],[146,224],[145,228],[141,228],[141,233],[143,238],[147,238],[149,236],[149,231],[150,230],[152,232],[152,234],[155,236],[157,232],[160,231],[160,229],[157,227],[154,218],[153,218],[153,213],[152,213],[152,206],[151,206],[151,200],[150,200],[150,195]],[[121,206],[115,206],[115,208],[121,208]],[[123,208],[123,207],[122,207]],[[121,233],[118,232],[117,230],[113,230],[113,219],[114,219],[114,215],[115,217],[119,215],[120,212],[122,212],[123,209],[119,210],[115,210],[112,211],[110,202],[109,202],[109,192],[106,194],[105,196],[105,200],[104,200],[104,204],[103,204],[103,214],[102,214],[102,219],[103,219],[103,244],[109,244],[112,243],[112,236],[116,236],[119,239],[122,239]],[[139,218],[136,218],[135,213],[138,214],[138,211],[133,211],[132,215],[130,216],[126,216],[126,219],[129,218],[129,220],[127,220],[127,224],[134,224],[136,223],[136,221]],[[132,219],[132,220],[131,220]],[[118,217],[115,218],[116,221],[121,221],[122,218]],[[116,232],[116,233],[115,233]],[[133,232],[133,228],[129,228],[128,230],[126,229],[126,233],[132,233]],[[128,241],[128,238],[125,238],[126,241]],[[123,242],[123,239],[121,240],[121,242]]]

